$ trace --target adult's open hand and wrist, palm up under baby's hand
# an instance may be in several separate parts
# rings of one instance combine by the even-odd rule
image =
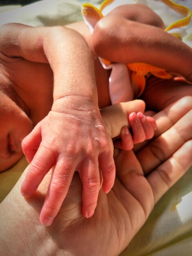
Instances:
[[[4,217],[1,218],[1,230],[4,231],[1,233],[1,254],[9,248],[9,255],[15,255],[12,252],[18,249],[17,239],[20,255],[31,252],[33,255],[86,256],[91,252],[115,256],[122,252],[143,226],[155,203],[192,164],[191,108],[190,97],[179,100],[154,116],[158,129],[150,143],[146,145],[145,142],[135,153],[115,151],[113,189],[108,194],[100,190],[92,218],[83,218],[81,214],[82,185],[76,173],[58,216],[45,228],[39,224],[39,212],[51,173],[35,195],[26,201],[19,193],[22,176],[1,205]],[[110,130],[113,133],[113,128]],[[7,212],[9,221],[5,218]]]

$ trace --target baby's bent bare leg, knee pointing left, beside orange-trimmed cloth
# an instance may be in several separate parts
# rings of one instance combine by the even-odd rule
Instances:
[[[148,7],[123,5],[98,21],[92,44],[96,54],[109,61],[148,63],[192,82],[192,49],[163,29]]]

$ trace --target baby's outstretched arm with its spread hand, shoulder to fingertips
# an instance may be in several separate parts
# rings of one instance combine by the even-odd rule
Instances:
[[[31,69],[37,67],[35,63],[47,63],[54,74],[52,108],[22,142],[31,163],[22,194],[31,196],[55,166],[40,214],[40,221],[51,225],[74,172],[78,171],[83,183],[83,216],[92,216],[100,189],[99,169],[103,175],[103,191],[108,192],[114,184],[115,165],[98,108],[94,65],[85,39],[65,27],[9,24],[0,30],[0,51],[7,65],[22,59]],[[34,83],[36,93],[38,86],[41,83]],[[18,87],[22,95],[29,91],[27,81]],[[53,88],[49,90],[52,93]],[[29,112],[34,116],[34,109],[38,112],[43,106],[34,106],[30,95],[26,98],[30,98],[32,111]]]

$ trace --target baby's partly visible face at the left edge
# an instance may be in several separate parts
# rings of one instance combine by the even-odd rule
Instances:
[[[22,157],[21,142],[32,130],[25,112],[0,92],[0,171],[13,166]]]

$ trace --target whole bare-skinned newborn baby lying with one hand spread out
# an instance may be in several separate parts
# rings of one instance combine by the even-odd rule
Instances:
[[[0,117],[4,117],[3,122],[8,114],[15,116],[15,126],[10,121],[7,128],[1,128],[5,141],[2,145],[8,149],[5,155],[9,157],[2,161],[1,170],[20,158],[22,152],[18,145],[29,134],[22,141],[31,163],[21,188],[23,195],[32,195],[55,166],[40,213],[44,225],[53,222],[75,171],[83,183],[82,212],[87,218],[96,207],[100,172],[105,193],[114,184],[112,141],[99,109],[114,103],[109,93],[111,70],[103,69],[98,56],[116,63],[149,63],[192,81],[192,49],[161,26],[162,21],[147,7],[129,5],[118,7],[99,20],[93,35],[83,22],[67,27],[9,24],[1,28]],[[130,94],[126,97],[133,100],[138,91],[134,84],[129,85]],[[191,85],[186,81],[150,76],[141,97],[145,98],[147,108],[159,111],[185,95],[192,95]],[[122,131],[116,131],[116,136],[121,132],[122,138],[117,146],[124,149],[131,149],[134,143],[154,134],[155,122],[141,113],[143,102],[142,107],[139,104],[132,110],[137,114],[128,115],[127,110],[133,137],[125,127],[127,117],[118,120],[114,113],[116,122],[121,121],[123,127]],[[117,109],[121,110],[122,106],[118,105]]]

